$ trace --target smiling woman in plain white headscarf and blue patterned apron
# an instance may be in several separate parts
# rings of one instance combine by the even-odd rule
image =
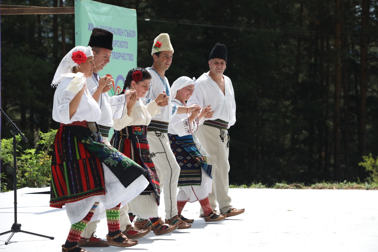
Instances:
[[[183,76],[178,78],[171,87],[172,104],[186,106],[187,100],[194,92],[195,79]],[[198,125],[203,123],[205,118],[212,117],[214,111],[211,107],[204,107],[202,110],[194,110],[191,114],[176,114],[168,125],[168,137],[170,146],[180,165],[180,176],[178,178],[179,191],[177,194],[177,210],[179,217],[188,223],[193,219],[187,219],[181,215],[186,202],[199,201],[205,213],[205,221],[220,221],[225,215],[220,215],[212,210],[209,203],[211,193],[211,165],[206,163],[204,156],[206,151],[201,147],[195,132]]]

